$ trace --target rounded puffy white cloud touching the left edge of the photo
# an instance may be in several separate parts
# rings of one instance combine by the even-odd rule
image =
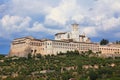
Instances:
[[[16,32],[22,32],[29,27],[30,17],[10,16],[5,15],[0,20],[1,36],[10,36]]]

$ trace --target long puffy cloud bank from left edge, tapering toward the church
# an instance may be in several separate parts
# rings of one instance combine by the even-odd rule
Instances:
[[[62,30],[45,27],[43,23],[37,21],[33,23],[31,22],[32,20],[30,17],[5,15],[2,17],[2,19],[0,19],[0,37],[5,38],[8,36],[7,38],[11,38],[13,37],[12,35],[16,33],[21,33],[21,35],[26,33],[29,33],[29,35],[31,35],[32,33],[37,32],[55,34]]]

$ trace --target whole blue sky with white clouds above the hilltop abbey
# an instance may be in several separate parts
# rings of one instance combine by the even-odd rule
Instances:
[[[54,38],[78,23],[94,42],[120,40],[120,0],[0,0],[0,54],[14,38]]]

